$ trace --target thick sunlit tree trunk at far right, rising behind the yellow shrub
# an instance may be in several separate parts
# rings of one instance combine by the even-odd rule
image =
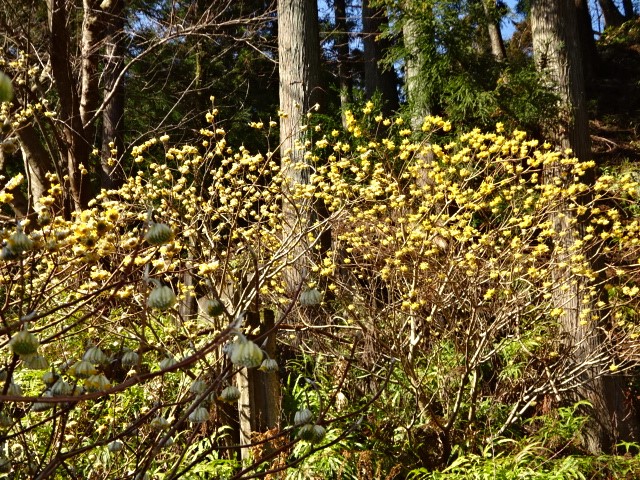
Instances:
[[[588,119],[574,0],[534,0],[531,24],[534,58],[560,99],[560,118],[556,125],[549,127],[547,134],[563,148],[571,148],[578,159],[588,160]],[[564,173],[562,169],[560,165],[548,167],[545,176],[558,177]],[[568,204],[564,211],[552,214],[551,221],[558,234],[553,253],[557,267],[552,301],[563,311],[559,320],[569,339],[568,347],[576,364],[582,365],[584,373],[577,394],[593,407],[584,432],[585,447],[597,454],[612,449],[617,438],[616,425],[623,422],[620,385],[617,378],[598,376],[597,370],[602,369],[602,365],[589,366],[594,355],[601,351],[603,337],[598,320],[581,321],[587,312],[597,312],[597,307],[595,299],[588,294],[587,280],[572,274],[575,260],[570,253],[584,234],[585,222],[572,213]],[[598,271],[598,256],[593,253],[588,260],[594,271]]]

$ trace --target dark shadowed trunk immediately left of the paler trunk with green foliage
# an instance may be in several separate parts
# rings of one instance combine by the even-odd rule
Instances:
[[[398,110],[398,76],[393,68],[384,69],[384,59],[390,42],[382,38],[382,25],[386,22],[384,9],[372,8],[370,0],[362,0],[362,44],[364,49],[364,91],[367,98],[376,92],[382,96],[382,112],[390,115]]]

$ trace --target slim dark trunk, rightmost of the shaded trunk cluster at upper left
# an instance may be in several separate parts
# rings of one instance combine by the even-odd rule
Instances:
[[[114,0],[107,12],[105,28],[104,95],[109,101],[102,112],[100,183],[107,189],[115,188],[122,180],[119,160],[124,153],[125,87],[124,80],[118,78],[124,68],[124,14],[124,0]]]

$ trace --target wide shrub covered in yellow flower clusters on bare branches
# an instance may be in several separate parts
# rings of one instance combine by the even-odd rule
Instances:
[[[587,370],[632,366],[640,223],[626,205],[640,190],[630,176],[587,182],[591,162],[500,125],[438,145],[445,120],[412,132],[372,105],[348,113],[344,132],[308,129],[298,164],[229,145],[215,112],[206,119],[198,145],[134,148],[148,167],[72,218],[50,174],[37,219],[2,231],[3,468],[41,478],[236,468],[228,428],[246,403],[236,374],[275,375],[299,353],[327,373],[308,374],[315,411],[297,399],[236,478],[365,437],[358,425],[380,412],[395,433],[371,428],[363,449],[417,452],[435,432],[446,458],[468,432],[508,434]],[[291,170],[309,182],[291,184]],[[584,226],[570,244],[561,216]],[[576,285],[580,322],[598,338],[587,358],[554,302]],[[243,321],[263,309],[279,312],[273,331]]]

